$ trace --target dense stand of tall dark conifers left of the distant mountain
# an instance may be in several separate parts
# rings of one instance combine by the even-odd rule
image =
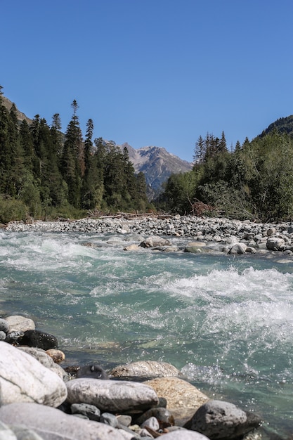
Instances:
[[[0,87],[0,222],[81,218],[99,212],[146,212],[145,175],[135,173],[128,151],[93,139],[93,120],[83,138],[72,102],[65,134],[60,115],[51,126],[36,115],[20,122],[15,105],[3,105]]]

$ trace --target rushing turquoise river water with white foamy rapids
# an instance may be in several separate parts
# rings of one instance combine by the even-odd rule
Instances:
[[[56,335],[65,365],[169,362],[211,398],[258,413],[289,438],[293,260],[125,252],[130,243],[0,232],[1,315],[29,316]]]

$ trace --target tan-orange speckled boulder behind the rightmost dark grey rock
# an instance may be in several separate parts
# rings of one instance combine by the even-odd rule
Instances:
[[[167,400],[169,410],[192,408],[197,410],[209,397],[200,392],[194,385],[178,377],[157,377],[143,382],[155,390],[159,397]]]

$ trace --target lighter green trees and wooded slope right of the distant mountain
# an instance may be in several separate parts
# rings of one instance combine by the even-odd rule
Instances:
[[[292,117],[276,122],[252,141],[246,138],[242,145],[237,141],[230,151],[224,133],[221,138],[200,136],[192,171],[169,177],[159,207],[174,214],[291,220],[293,138],[288,124],[292,125]]]

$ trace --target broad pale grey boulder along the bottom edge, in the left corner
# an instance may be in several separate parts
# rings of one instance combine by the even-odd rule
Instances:
[[[1,406],[0,420],[7,425],[23,425],[44,440],[124,440],[117,429],[100,422],[73,417],[37,403]]]

